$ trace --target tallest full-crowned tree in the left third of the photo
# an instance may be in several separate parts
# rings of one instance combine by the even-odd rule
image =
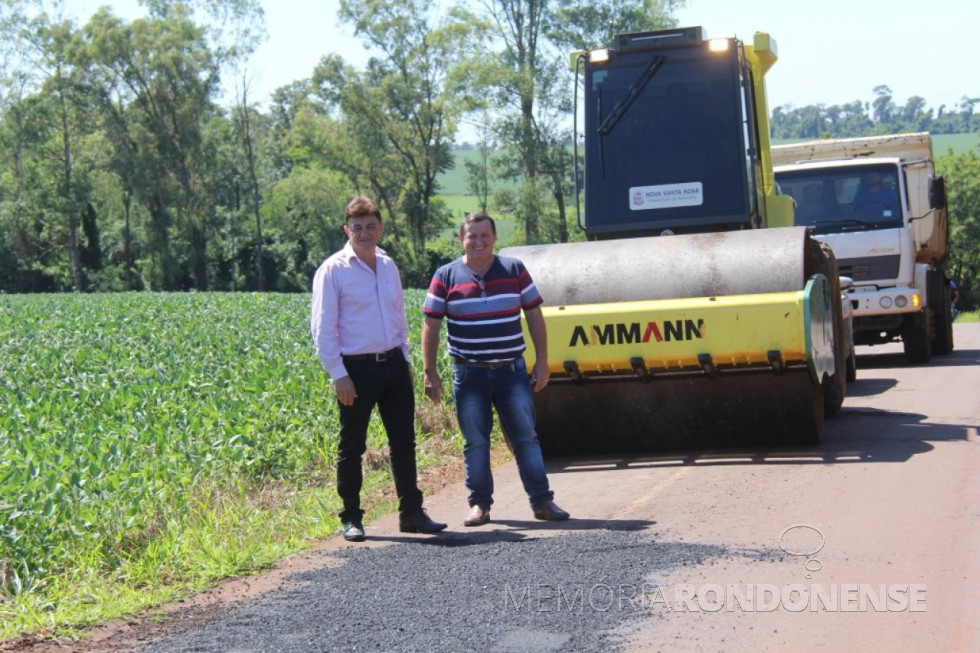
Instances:
[[[184,286],[171,250],[171,228],[186,244],[188,275],[199,290],[207,282],[209,198],[201,193],[202,129],[214,111],[216,63],[203,30],[181,3],[161,8],[158,17],[125,23],[106,10],[87,26],[87,63],[100,88],[103,108],[116,99],[117,128],[138,174],[134,196],[149,214],[147,276],[151,288]]]

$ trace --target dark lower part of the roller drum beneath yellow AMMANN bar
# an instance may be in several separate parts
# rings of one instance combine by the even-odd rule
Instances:
[[[535,393],[548,456],[813,444],[822,404],[806,374],[552,384]]]

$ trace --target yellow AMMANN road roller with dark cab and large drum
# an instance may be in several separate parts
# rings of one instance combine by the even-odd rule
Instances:
[[[543,449],[818,441],[846,387],[840,279],[775,190],[774,40],[679,28],[573,59],[586,240],[501,252],[545,299]]]

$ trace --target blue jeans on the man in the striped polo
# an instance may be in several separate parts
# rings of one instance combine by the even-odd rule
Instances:
[[[554,498],[548,487],[541,444],[534,429],[531,392],[523,358],[496,369],[463,363],[453,365],[453,396],[459,429],[466,441],[463,460],[471,506],[489,508],[493,503],[493,474],[490,471],[493,408],[496,408],[500,427],[514,450],[517,470],[531,506]]]

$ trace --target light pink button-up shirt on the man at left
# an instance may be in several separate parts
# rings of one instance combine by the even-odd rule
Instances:
[[[408,324],[401,276],[377,248],[377,272],[348,242],[313,276],[310,330],[323,369],[336,381],[347,376],[343,355],[377,354],[401,347],[408,360]]]

